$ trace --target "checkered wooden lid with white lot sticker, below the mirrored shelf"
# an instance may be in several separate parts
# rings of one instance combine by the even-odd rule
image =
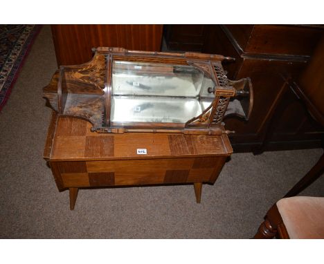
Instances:
[[[96,133],[85,120],[59,117],[53,136],[51,160],[129,160],[229,155],[227,135],[182,135],[168,133]],[[137,149],[147,149],[138,155]]]

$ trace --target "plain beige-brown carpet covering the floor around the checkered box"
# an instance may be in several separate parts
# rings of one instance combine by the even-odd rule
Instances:
[[[70,211],[42,158],[51,115],[42,88],[56,68],[44,26],[0,113],[0,238],[250,238],[322,153],[233,154],[200,205],[190,185],[84,189]],[[303,195],[324,196],[324,178]]]

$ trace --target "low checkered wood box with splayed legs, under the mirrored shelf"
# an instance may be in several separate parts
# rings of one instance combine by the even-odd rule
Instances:
[[[69,189],[73,209],[82,187],[213,184],[233,152],[226,134],[94,133],[91,124],[53,111],[44,158],[57,188]],[[138,155],[136,149],[147,149]]]

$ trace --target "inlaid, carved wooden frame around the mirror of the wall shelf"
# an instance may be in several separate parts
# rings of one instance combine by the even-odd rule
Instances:
[[[93,125],[91,131],[98,133],[153,132],[205,135],[228,133],[220,124],[227,104],[231,97],[235,97],[237,90],[233,86],[224,84],[224,78],[227,79],[227,77],[223,70],[222,76],[219,72],[216,73],[215,66],[222,69],[222,61],[232,58],[202,53],[160,53],[109,47],[99,47],[93,51],[95,54],[90,62],[60,67],[57,97],[53,96],[53,84],[57,79],[57,73],[53,76],[51,84],[44,88],[44,97],[60,116],[87,120]],[[203,113],[192,117],[186,123],[111,122],[111,83],[114,60],[195,66],[215,83],[214,100]],[[156,71],[159,72],[159,69]],[[219,80],[219,77],[222,80]],[[250,95],[252,102],[251,98],[253,99],[253,95]],[[221,107],[219,100],[223,99],[225,104],[222,103]],[[251,113],[251,107],[249,113]],[[215,118],[216,115],[217,118]]]

